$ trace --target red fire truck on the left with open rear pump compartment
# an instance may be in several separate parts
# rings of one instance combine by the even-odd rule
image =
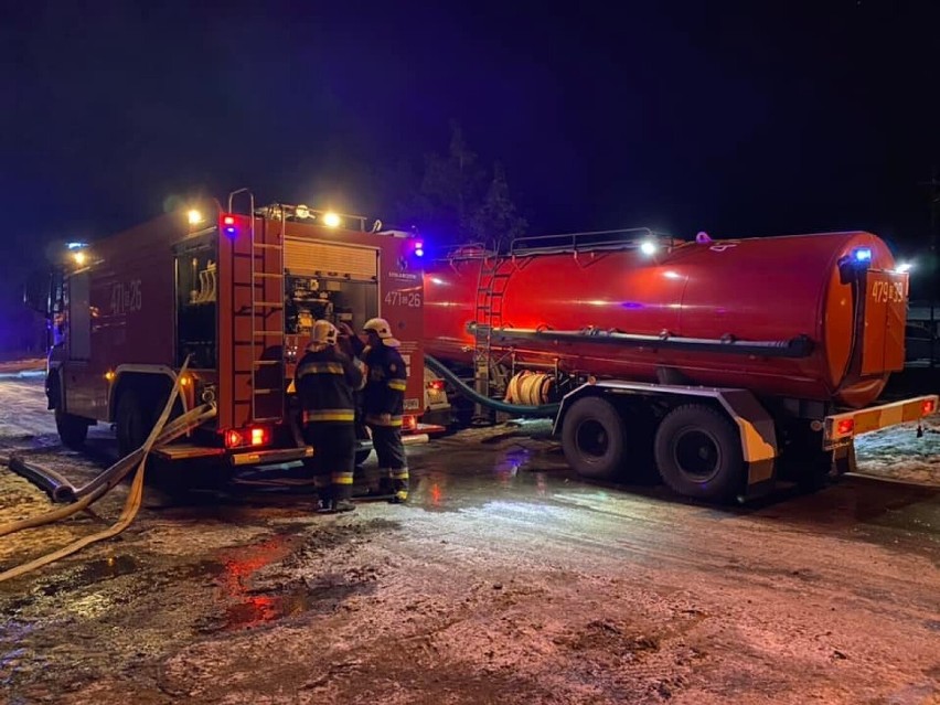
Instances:
[[[193,203],[70,247],[47,309],[46,394],[65,445],[104,423],[121,455],[138,448],[189,357],[179,412],[211,403],[216,415],[159,457],[231,466],[308,457],[291,380],[313,321],[360,330],[375,316],[389,321],[408,364],[406,442],[436,430],[418,423],[424,249],[414,234],[303,205],[256,207],[241,190],[225,209]],[[371,448],[362,431],[360,462]]]

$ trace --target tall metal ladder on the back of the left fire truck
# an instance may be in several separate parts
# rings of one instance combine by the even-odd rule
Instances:
[[[228,210],[232,212],[232,195]],[[250,199],[250,388],[252,420],[280,421],[285,406],[285,306],[284,234],[286,216],[261,220],[260,233],[255,220],[255,197]],[[278,224],[273,232],[270,225]],[[260,290],[260,291],[259,291]],[[277,296],[277,300],[274,297]]]

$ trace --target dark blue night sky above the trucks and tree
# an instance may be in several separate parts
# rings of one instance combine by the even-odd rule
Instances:
[[[6,274],[200,191],[383,217],[376,174],[446,150],[451,119],[532,234],[926,247],[940,2],[619,4],[7,0]]]

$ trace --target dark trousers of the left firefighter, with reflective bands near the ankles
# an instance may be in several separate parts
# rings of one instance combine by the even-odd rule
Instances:
[[[303,440],[313,447],[313,457],[303,464],[313,474],[321,500],[349,500],[355,469],[355,426],[342,421],[305,424]]]

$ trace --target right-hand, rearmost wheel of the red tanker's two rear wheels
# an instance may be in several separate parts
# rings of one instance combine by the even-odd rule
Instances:
[[[670,412],[656,431],[655,458],[663,481],[686,496],[726,501],[744,480],[738,428],[711,406],[688,404]]]

